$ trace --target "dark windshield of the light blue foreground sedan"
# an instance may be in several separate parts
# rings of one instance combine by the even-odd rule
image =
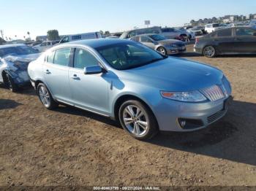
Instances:
[[[140,43],[121,42],[96,50],[114,69],[125,70],[154,63],[167,57]]]

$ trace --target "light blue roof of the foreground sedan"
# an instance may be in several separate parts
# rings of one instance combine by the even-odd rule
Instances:
[[[117,44],[121,42],[132,42],[132,41],[128,39],[86,39],[86,40],[80,40],[80,41],[74,41],[74,42],[67,42],[65,44],[85,45],[92,48],[97,48],[97,47],[105,47],[111,44]]]

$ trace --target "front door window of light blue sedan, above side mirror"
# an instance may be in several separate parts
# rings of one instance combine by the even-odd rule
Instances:
[[[99,61],[90,52],[83,49],[75,49],[74,68],[84,69],[86,66],[97,66]]]

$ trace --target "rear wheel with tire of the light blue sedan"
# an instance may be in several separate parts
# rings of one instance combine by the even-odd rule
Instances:
[[[43,83],[39,83],[39,85],[37,85],[37,95],[41,103],[47,109],[55,109],[57,106],[59,106],[59,104],[53,100],[53,96]]]

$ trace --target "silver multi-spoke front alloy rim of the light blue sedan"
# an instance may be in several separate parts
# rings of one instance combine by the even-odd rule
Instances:
[[[135,136],[143,136],[148,130],[148,116],[142,109],[129,105],[123,112],[124,125]]]

